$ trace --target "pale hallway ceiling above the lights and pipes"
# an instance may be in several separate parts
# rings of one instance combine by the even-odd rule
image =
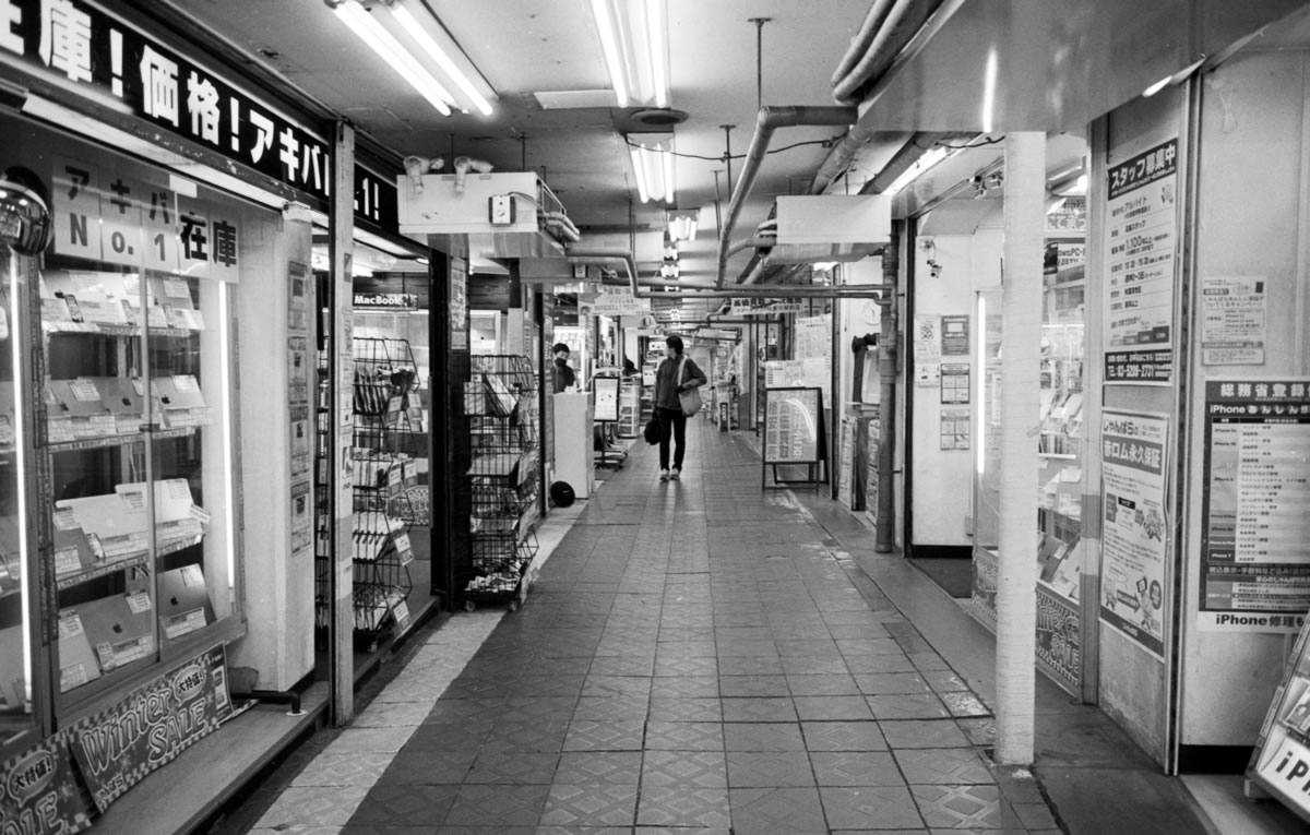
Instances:
[[[401,81],[322,0],[166,0],[185,18],[345,114],[397,154],[470,156],[500,171],[536,170],[584,232],[663,230],[667,204],[638,202],[622,132],[641,107],[613,103],[587,0],[403,0],[440,21],[494,89],[491,116],[443,116]],[[688,118],[677,137],[679,208],[700,208],[701,232],[684,245],[683,281],[714,280],[715,198],[723,211],[755,135],[758,101],[831,106],[831,77],[871,0],[668,0],[671,107]],[[1149,7],[1149,8],[1148,8]],[[157,8],[157,7],[153,7]],[[852,175],[858,191],[910,131],[1006,130],[1081,133],[1089,119],[1136,97],[1151,81],[1213,55],[1262,25],[1303,8],[1294,0],[945,0],[861,109],[871,137]],[[762,90],[757,89],[756,24]],[[930,35],[930,37],[927,37]],[[990,123],[981,80],[998,58]],[[570,93],[592,106],[546,109],[540,93]],[[734,126],[726,133],[722,126]],[[650,130],[650,128],[646,128]],[[777,195],[804,194],[828,157],[820,144],[841,127],[779,130],[734,240],[764,221]],[[808,143],[808,144],[802,144]],[[799,144],[799,145],[798,145]],[[796,145],[790,149],[783,149]],[[997,147],[998,149],[1000,147]],[[718,183],[715,183],[718,174]],[[728,263],[740,276],[751,250]],[[639,264],[652,275],[658,264]]]

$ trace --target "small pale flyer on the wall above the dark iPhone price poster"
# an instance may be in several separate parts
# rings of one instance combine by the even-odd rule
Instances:
[[[1264,279],[1201,280],[1201,363],[1264,365]]]

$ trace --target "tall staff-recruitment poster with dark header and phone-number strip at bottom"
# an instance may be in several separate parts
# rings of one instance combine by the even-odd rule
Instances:
[[[1107,174],[1106,382],[1165,385],[1172,376],[1178,140]]]

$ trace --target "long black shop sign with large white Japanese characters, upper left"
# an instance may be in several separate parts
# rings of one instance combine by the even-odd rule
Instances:
[[[0,58],[90,97],[110,97],[152,126],[300,192],[330,196],[328,143],[83,0],[0,0]],[[356,166],[354,196],[358,220],[397,229],[390,175]]]

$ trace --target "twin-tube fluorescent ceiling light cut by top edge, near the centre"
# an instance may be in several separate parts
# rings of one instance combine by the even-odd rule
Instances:
[[[668,107],[667,0],[591,0],[620,107]]]

